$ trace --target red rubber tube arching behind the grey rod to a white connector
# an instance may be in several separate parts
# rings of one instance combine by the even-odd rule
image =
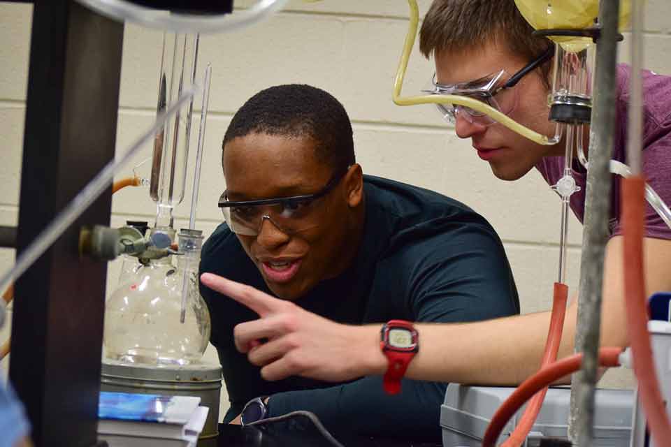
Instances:
[[[599,364],[605,367],[614,367],[619,365],[619,355],[621,348],[602,348],[599,350]],[[580,369],[582,364],[582,353],[558,360],[551,365],[542,367],[539,372],[526,379],[517,390],[508,397],[505,402],[496,410],[491,423],[484,432],[482,447],[493,447],[496,440],[503,431],[503,427],[514,413],[524,405],[530,397],[538,391],[547,387],[549,383],[561,379],[563,376],[572,374]]]

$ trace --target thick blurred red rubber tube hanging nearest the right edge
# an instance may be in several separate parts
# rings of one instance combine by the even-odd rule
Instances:
[[[643,266],[645,181],[638,176],[622,179],[621,191],[625,263],[624,291],[634,372],[638,383],[639,399],[652,437],[656,445],[665,446],[671,439],[671,425],[653,362],[645,295]]]

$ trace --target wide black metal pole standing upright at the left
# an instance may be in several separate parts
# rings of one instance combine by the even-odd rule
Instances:
[[[123,24],[73,1],[34,2],[17,249],[114,156]],[[106,264],[79,228],[109,224],[111,190],[15,286],[10,381],[38,447],[96,444]]]

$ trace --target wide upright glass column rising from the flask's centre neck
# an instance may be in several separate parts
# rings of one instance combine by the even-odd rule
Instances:
[[[157,113],[194,84],[198,35],[164,33]],[[184,198],[193,100],[160,129],[154,140],[150,196],[157,203],[157,228],[173,226],[173,208]]]

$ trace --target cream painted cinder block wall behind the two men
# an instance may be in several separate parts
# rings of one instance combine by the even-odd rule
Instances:
[[[241,4],[240,4],[241,3]],[[251,1],[236,1],[241,8]],[[430,0],[420,0],[424,15]],[[649,0],[645,61],[658,73],[671,73],[671,6]],[[17,223],[22,136],[27,86],[31,6],[0,3],[0,225]],[[216,200],[224,189],[220,168],[221,140],[232,114],[260,89],[289,82],[315,85],[330,91],[344,105],[354,124],[356,156],[366,173],[424,186],[470,205],[498,230],[517,279],[522,311],[549,309],[558,263],[560,204],[535,172],[518,182],[502,182],[477,159],[470,141],[456,138],[432,106],[400,108],[391,102],[401,45],[407,29],[403,0],[292,0],[281,13],[249,29],[201,37],[199,75],[212,64],[212,91],[208,116],[197,228],[209,235],[221,222]],[[162,33],[128,24],[117,130],[117,152],[123,152],[153,119],[157,101],[158,66]],[[621,59],[628,57],[627,41]],[[433,74],[431,61],[415,50],[407,71],[405,94],[416,94]],[[196,104],[200,104],[196,98]],[[199,110],[194,112],[198,129]],[[196,133],[192,135],[192,160]],[[92,148],[94,150],[94,148]],[[147,145],[136,159],[151,154]],[[75,167],[73,167],[75,168]],[[189,168],[192,171],[192,168]],[[148,175],[148,166],[138,169]],[[125,175],[129,175],[128,169]],[[123,175],[122,175],[123,176]],[[175,211],[175,226],[187,224],[187,198]],[[113,226],[128,219],[152,221],[155,207],[146,189],[125,189],[114,196]],[[579,277],[582,228],[570,222],[568,283],[575,293]],[[14,252],[0,249],[0,270],[13,263]],[[107,290],[117,283],[120,263],[109,264]],[[30,297],[17,297],[29,300]],[[10,312],[11,316],[11,312]],[[8,337],[9,325],[0,331]],[[208,349],[208,361],[217,361]],[[8,359],[0,367],[6,371]],[[607,373],[605,386],[630,386],[630,374]],[[222,393],[222,409],[227,397]]]

